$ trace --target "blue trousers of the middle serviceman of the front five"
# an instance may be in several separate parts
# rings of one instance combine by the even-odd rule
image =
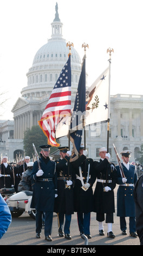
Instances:
[[[77,222],[81,233],[90,235],[90,212],[81,214],[77,212]]]

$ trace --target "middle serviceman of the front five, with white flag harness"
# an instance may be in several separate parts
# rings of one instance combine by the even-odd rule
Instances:
[[[77,212],[77,222],[80,235],[90,235],[90,212],[93,210],[94,179],[92,178],[93,160],[87,158],[87,150],[81,144],[79,158],[72,162],[76,181],[74,186],[74,211]]]

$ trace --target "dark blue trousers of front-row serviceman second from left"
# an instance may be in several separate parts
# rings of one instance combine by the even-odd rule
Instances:
[[[57,214],[57,224],[58,224],[58,230],[63,230],[63,222],[64,222],[64,215],[65,215],[65,223],[64,223],[64,234],[70,234],[70,222],[72,219],[71,214]]]

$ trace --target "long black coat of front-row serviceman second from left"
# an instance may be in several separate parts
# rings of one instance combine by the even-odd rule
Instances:
[[[56,161],[56,172],[57,172],[57,194],[58,197],[55,198],[55,212],[62,214],[74,214],[74,172],[72,164],[69,163],[69,157],[65,156],[64,159],[59,159]],[[68,169],[69,164],[69,169]],[[73,184],[70,188],[66,188],[66,180],[70,179]]]

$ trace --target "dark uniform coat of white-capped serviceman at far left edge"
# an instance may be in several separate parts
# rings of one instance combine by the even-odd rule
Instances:
[[[15,185],[15,176],[14,176],[14,169],[8,164],[5,168],[4,164],[1,164],[1,174],[2,175],[10,175],[5,176],[5,187],[11,188],[11,185]],[[0,178],[0,188],[4,187],[4,176]]]

